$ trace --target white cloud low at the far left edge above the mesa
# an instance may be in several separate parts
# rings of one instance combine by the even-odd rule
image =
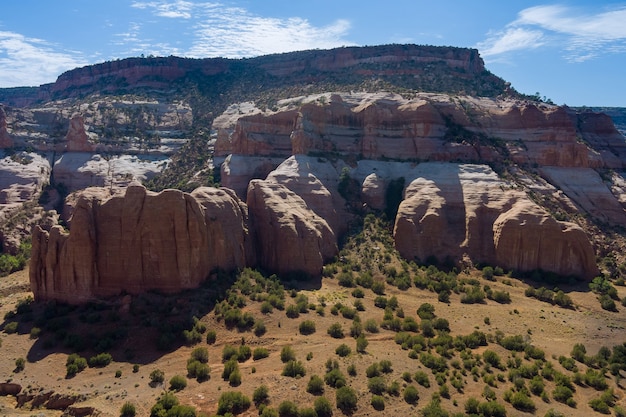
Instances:
[[[86,65],[78,53],[57,52],[41,39],[0,31],[0,86],[36,86],[64,71]]]

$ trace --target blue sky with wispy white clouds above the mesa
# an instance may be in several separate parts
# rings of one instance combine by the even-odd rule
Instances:
[[[343,45],[477,48],[518,91],[626,107],[626,1],[19,0],[2,5],[0,87],[143,55],[250,57]]]

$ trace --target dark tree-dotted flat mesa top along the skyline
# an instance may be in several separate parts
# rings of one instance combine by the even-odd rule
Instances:
[[[288,52],[248,59],[127,58],[67,71],[56,82],[38,88],[0,89],[0,102],[25,107],[38,101],[91,93],[141,89],[168,91],[179,81],[196,82],[223,74],[228,74],[235,83],[239,79],[249,83],[252,76],[270,80],[280,78],[282,83],[301,85],[323,82],[328,80],[329,73],[337,75],[345,71],[364,80],[411,77],[409,83],[415,83],[415,89],[428,91],[432,88],[436,91],[469,89],[489,96],[507,91],[502,79],[485,70],[476,49],[394,44]],[[437,77],[441,73],[446,74],[445,81],[433,82],[433,74]],[[350,82],[349,79],[346,82]]]

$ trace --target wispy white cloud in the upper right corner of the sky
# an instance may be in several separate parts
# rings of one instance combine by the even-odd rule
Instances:
[[[570,62],[626,51],[626,7],[588,12],[562,5],[524,9],[505,28],[476,46],[486,59],[515,51],[554,47]]]

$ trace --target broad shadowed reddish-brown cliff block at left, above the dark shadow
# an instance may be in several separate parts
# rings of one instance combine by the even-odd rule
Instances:
[[[147,289],[197,287],[215,268],[254,263],[247,211],[232,192],[128,187],[80,198],[70,233],[33,232],[31,288],[36,299],[81,302]]]

